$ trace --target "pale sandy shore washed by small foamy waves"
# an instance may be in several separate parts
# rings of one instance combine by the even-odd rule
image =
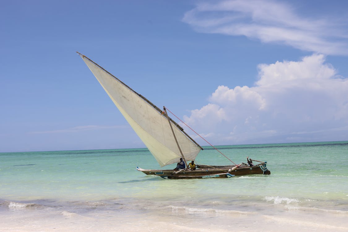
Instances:
[[[108,202],[1,202],[1,231],[347,231],[348,211],[294,207],[290,203],[250,202],[221,210],[219,204],[132,199]],[[134,202],[132,202],[134,201]],[[56,205],[55,205],[56,204]],[[239,205],[237,208],[236,205]],[[243,210],[244,209],[244,210]],[[285,229],[284,229],[285,228]]]

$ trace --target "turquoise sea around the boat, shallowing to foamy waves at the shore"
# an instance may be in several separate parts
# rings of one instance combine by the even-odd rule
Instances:
[[[196,163],[231,163],[203,148]],[[148,149],[0,153],[0,231],[348,231],[348,141],[217,149],[271,175],[163,179],[136,170],[160,169]]]

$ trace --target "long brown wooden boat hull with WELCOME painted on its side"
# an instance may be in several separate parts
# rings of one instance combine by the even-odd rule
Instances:
[[[179,171],[167,169],[142,169],[136,167],[138,171],[142,171],[146,175],[156,175],[156,176],[171,176],[168,179],[193,179],[193,178],[203,178],[202,176],[209,175],[221,175],[221,174],[230,174],[234,176],[246,176],[246,175],[270,175],[271,172],[266,167],[265,163],[260,163],[253,167],[250,166],[242,166],[242,167],[221,167],[221,168],[202,168],[196,170],[184,170],[181,169]],[[187,177],[187,178],[185,178]],[[192,177],[192,178],[191,178]],[[227,178],[227,177],[220,177]]]

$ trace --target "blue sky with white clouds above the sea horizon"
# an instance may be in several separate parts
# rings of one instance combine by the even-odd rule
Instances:
[[[145,147],[76,51],[213,145],[348,140],[347,1],[13,0],[0,19],[0,152]]]

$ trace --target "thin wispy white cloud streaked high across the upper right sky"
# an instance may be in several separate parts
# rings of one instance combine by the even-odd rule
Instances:
[[[348,54],[346,21],[307,17],[296,15],[284,2],[226,0],[199,2],[185,13],[183,22],[204,33],[244,35],[327,55]]]

